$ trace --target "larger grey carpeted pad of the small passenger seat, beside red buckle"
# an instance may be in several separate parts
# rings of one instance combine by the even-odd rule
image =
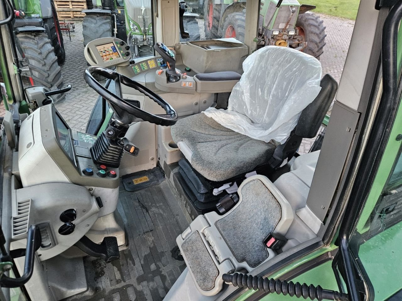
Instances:
[[[263,240],[281,220],[282,209],[271,191],[256,179],[241,189],[242,202],[215,222],[238,262],[255,268],[268,258]]]

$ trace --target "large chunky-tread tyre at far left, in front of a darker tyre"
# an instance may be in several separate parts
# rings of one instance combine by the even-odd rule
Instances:
[[[61,68],[47,34],[19,33],[16,37],[29,66],[31,83],[47,87],[51,91],[61,89],[63,87]],[[65,98],[64,93],[53,95],[55,103],[62,102]]]

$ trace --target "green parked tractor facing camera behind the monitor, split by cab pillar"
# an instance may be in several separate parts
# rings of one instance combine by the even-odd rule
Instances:
[[[87,10],[82,23],[84,45],[103,37],[117,37],[127,41],[134,57],[153,55],[152,11],[150,0],[87,0]],[[183,25],[190,37],[181,39],[197,41],[200,38],[198,14],[185,12]]]

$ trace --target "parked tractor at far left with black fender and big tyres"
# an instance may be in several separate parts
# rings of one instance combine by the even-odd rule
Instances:
[[[59,64],[64,63],[66,51],[53,0],[14,0],[13,4],[22,74],[31,85],[61,89],[64,86]],[[55,102],[65,98],[64,93],[53,96]]]

